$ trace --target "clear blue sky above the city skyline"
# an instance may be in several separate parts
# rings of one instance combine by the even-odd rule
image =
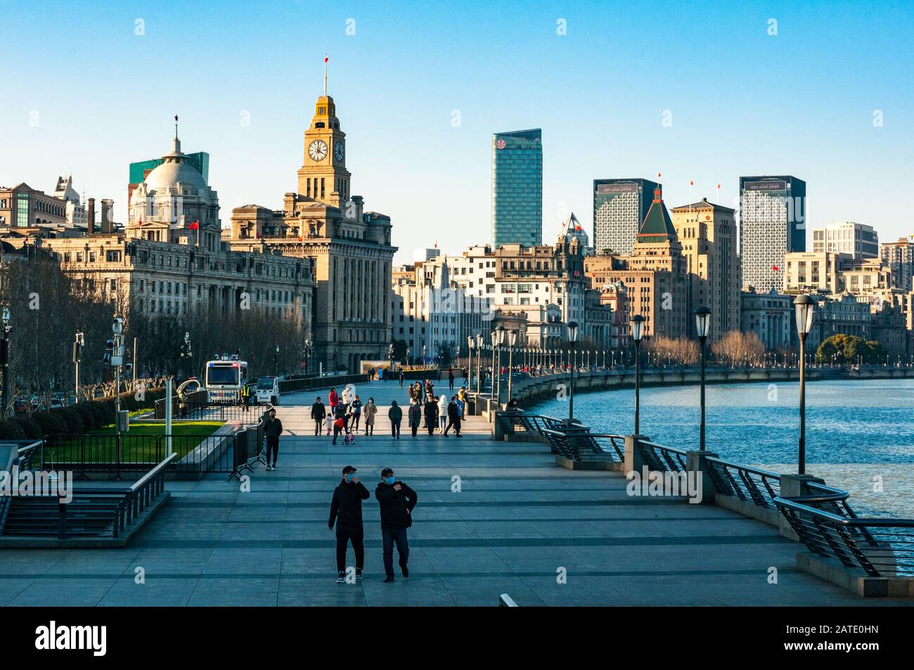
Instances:
[[[168,150],[175,113],[184,150],[211,154],[224,225],[232,207],[280,207],[326,52],[353,193],[393,219],[398,261],[487,241],[491,134],[532,127],[547,240],[572,210],[590,230],[592,179],[658,172],[670,206],[690,180],[693,199],[732,207],[739,175],[792,174],[811,225],[914,233],[912,3],[4,7],[0,184],[48,191],[72,173],[118,218],[128,164]]]

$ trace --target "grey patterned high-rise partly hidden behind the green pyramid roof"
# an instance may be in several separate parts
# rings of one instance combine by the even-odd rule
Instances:
[[[593,249],[627,256],[660,186],[648,179],[593,180]]]

